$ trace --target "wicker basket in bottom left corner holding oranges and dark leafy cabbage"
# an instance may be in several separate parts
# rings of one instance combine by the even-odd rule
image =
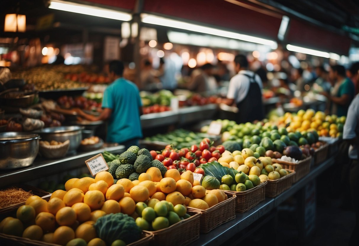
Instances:
[[[136,242],[127,244],[127,246],[147,246],[149,242],[153,239],[153,233],[143,231],[141,239]],[[13,245],[13,246],[24,246],[24,245],[35,245],[35,246],[59,246],[54,243],[47,243],[37,240],[31,240],[24,237],[10,236],[3,233],[0,233],[0,241],[3,242],[3,245]]]

